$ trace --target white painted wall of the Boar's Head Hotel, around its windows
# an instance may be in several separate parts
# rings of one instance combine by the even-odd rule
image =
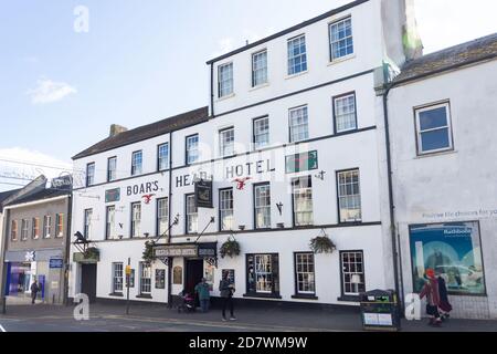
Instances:
[[[138,263],[141,261],[144,242],[147,238],[130,239],[130,204],[141,201],[141,233],[156,236],[156,199],[169,195],[169,178],[172,185],[170,216],[179,215],[179,223],[171,229],[171,242],[193,242],[198,235],[186,233],[184,200],[194,191],[193,175],[205,173],[213,177],[213,209],[199,208],[198,230],[209,225],[201,242],[218,242],[220,247],[230,232],[220,232],[219,189],[233,188],[234,223],[233,236],[240,242],[241,254],[235,258],[219,258],[214,270],[212,295],[218,296],[218,284],[224,269],[235,271],[235,298],[281,300],[324,304],[357,304],[357,298],[347,298],[342,291],[340,252],[361,251],[363,254],[363,279],[366,290],[393,289],[391,239],[385,176],[385,144],[383,133],[383,111],[381,97],[376,96],[374,86],[382,80],[383,62],[396,65],[403,63],[402,27],[405,12],[399,6],[402,1],[371,0],[343,11],[311,22],[293,32],[273,38],[212,64],[214,100],[210,107],[213,114],[207,123],[176,131],[159,137],[141,140],[108,152],[78,158],[74,168],[84,171],[87,164],[95,163],[95,185],[75,186],[73,198],[73,233],[84,228],[84,210],[92,209],[93,241],[101,251],[97,263],[97,291],[101,299],[123,299],[113,295],[113,262],[126,264],[130,258],[136,270],[136,284],[130,299],[139,301],[166,302],[167,289],[155,289],[155,269],[165,269],[156,261],[152,264],[151,299],[139,295]],[[409,3],[409,1],[408,1]],[[399,8],[400,7],[400,8]],[[390,11],[389,11],[390,10]],[[401,11],[402,10],[402,11]],[[384,14],[398,13],[396,20]],[[329,23],[350,17],[352,21],[353,54],[330,62]],[[287,75],[287,40],[305,34],[307,46],[307,71]],[[267,50],[267,84],[251,87],[251,55]],[[233,94],[218,98],[218,65],[233,62]],[[211,70],[211,67],[209,67]],[[332,97],[356,93],[357,129],[347,134],[334,131]],[[288,110],[307,105],[308,139],[292,144],[288,142]],[[234,112],[233,112],[234,111]],[[254,150],[252,144],[253,119],[268,116],[269,145]],[[234,127],[235,156],[220,156],[219,132]],[[199,163],[186,165],[186,137],[199,135]],[[169,140],[171,139],[171,140]],[[157,146],[168,143],[172,154],[172,169],[157,171]],[[130,177],[131,154],[142,150],[142,176]],[[296,153],[317,150],[318,168],[300,173],[285,173],[285,157]],[[117,157],[117,180],[106,183],[107,159]],[[258,163],[261,162],[261,163]],[[246,164],[252,163],[251,171]],[[236,175],[236,166],[243,171]],[[234,175],[226,176],[226,169],[234,168]],[[258,170],[257,170],[258,169]],[[361,220],[340,222],[338,219],[337,177],[340,170],[358,169],[360,180]],[[324,178],[317,177],[325,171]],[[189,185],[178,184],[189,177]],[[310,176],[313,192],[313,225],[294,227],[290,183],[293,178]],[[236,189],[236,177],[251,177],[243,190]],[[127,195],[127,187],[147,183],[158,183],[158,190],[150,204],[145,204],[146,192]],[[271,184],[271,229],[254,230],[253,185]],[[117,235],[123,239],[105,240],[105,191],[120,188],[120,200],[116,207],[115,223]],[[276,204],[282,204],[279,214]],[[283,226],[281,226],[283,223]],[[278,226],[279,225],[279,226]],[[239,226],[244,226],[240,230]],[[294,252],[310,252],[311,238],[326,232],[337,246],[331,254],[315,254],[315,293],[313,299],[295,299]],[[161,242],[165,242],[162,239]],[[76,250],[73,248],[72,252]],[[246,254],[277,253],[279,289],[274,296],[247,294]],[[184,258],[175,258],[173,268],[186,268]],[[207,267],[207,263],[205,263]],[[184,275],[184,273],[183,273]],[[184,277],[183,277],[184,282]],[[184,283],[172,284],[171,293],[178,294]],[[166,284],[168,281],[166,280]],[[166,287],[167,288],[167,287]],[[81,292],[81,264],[73,263],[70,277],[70,296]]]

